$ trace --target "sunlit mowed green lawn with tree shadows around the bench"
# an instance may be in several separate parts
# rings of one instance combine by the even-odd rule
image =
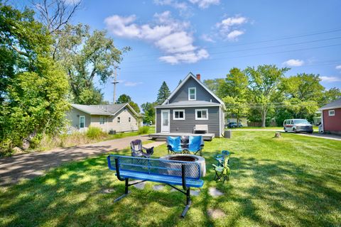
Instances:
[[[271,131],[234,131],[205,143],[207,175],[199,196],[180,218],[185,196],[152,182],[117,203],[124,192],[106,155],[51,170],[0,194],[0,226],[340,226],[341,141]],[[231,151],[229,182],[213,181],[211,164]],[[119,152],[129,155],[129,150]],[[155,157],[166,155],[166,145]],[[213,198],[210,187],[224,196]],[[104,193],[106,189],[114,192]],[[225,216],[211,219],[207,209]]]

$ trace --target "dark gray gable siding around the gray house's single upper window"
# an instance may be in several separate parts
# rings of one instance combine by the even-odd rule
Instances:
[[[169,100],[169,103],[177,102],[177,101],[188,101],[188,88],[195,87],[196,88],[196,100],[199,101],[211,101],[215,103],[219,103],[217,99],[215,99],[212,94],[207,92],[202,85],[198,84],[192,77],[188,79],[188,81],[183,84],[183,86],[174,94],[174,96]]]

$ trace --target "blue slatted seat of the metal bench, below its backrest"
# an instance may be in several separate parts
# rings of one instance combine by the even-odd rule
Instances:
[[[183,181],[181,177],[175,176],[165,176],[165,175],[150,175],[148,173],[143,172],[134,172],[134,171],[120,171],[121,177],[131,178],[131,179],[141,179],[150,182],[159,182],[164,184],[173,184],[173,185],[183,185]],[[186,177],[186,186],[187,187],[202,187],[204,181],[202,179],[190,179]]]

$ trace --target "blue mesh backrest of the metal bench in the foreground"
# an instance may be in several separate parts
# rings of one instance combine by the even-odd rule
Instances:
[[[140,172],[144,174],[161,175],[165,177],[182,177],[182,165],[185,165],[186,178],[200,179],[200,165],[198,165],[196,162],[180,162],[121,155],[109,155],[107,160],[110,170],[116,170],[116,162],[118,162],[120,172]]]

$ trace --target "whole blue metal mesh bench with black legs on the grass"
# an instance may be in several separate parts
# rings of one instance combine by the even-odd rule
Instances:
[[[195,162],[181,162],[160,160],[143,157],[129,157],[109,155],[107,157],[109,170],[115,170],[117,178],[125,181],[124,194],[114,201],[123,199],[128,194],[128,187],[141,182],[160,182],[168,184],[186,195],[186,206],[181,217],[184,217],[190,208],[190,187],[202,187],[200,179],[200,165]],[[129,184],[129,179],[140,179],[141,182]],[[180,185],[183,190],[174,185]]]

